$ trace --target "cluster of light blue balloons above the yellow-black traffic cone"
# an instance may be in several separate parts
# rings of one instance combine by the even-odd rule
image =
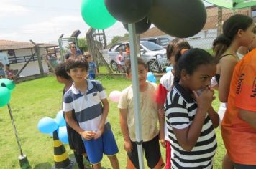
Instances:
[[[57,130],[60,141],[68,144],[68,132],[62,110],[57,113],[55,119],[50,117],[40,119],[37,123],[37,129],[42,133],[50,135]]]

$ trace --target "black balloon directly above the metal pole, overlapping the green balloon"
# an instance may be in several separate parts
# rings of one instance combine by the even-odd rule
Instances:
[[[104,0],[106,9],[122,23],[132,24],[145,18],[153,0]]]

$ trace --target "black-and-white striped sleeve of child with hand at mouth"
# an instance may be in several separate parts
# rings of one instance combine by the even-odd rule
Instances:
[[[168,124],[176,129],[184,129],[189,125],[188,109],[186,102],[178,93],[169,92],[165,102],[165,115]]]

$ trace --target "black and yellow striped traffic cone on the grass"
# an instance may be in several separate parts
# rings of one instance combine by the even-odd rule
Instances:
[[[63,143],[60,142],[57,130],[53,132],[54,145],[54,165],[52,169],[69,169],[73,168],[74,162],[69,160],[68,153],[65,150]]]

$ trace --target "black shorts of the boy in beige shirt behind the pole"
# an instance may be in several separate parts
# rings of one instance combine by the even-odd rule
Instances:
[[[155,166],[158,163],[163,164],[163,159],[161,157],[161,152],[160,152],[160,145],[159,145],[159,140],[158,140],[158,135],[155,136],[152,140],[143,142],[142,147],[145,152],[145,157],[147,160],[147,166],[149,168],[155,168]],[[138,158],[138,150],[137,150],[137,144],[135,142],[132,142],[132,151],[127,153],[129,160],[132,162],[134,165],[129,166],[130,168],[140,168],[139,166],[139,158]],[[127,166],[128,168],[128,166]]]

